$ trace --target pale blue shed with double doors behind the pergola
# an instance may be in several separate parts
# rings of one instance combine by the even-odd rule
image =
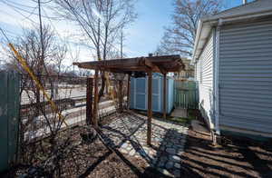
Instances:
[[[167,76],[166,79],[166,104],[167,114],[170,114],[174,107],[174,80]],[[139,109],[147,111],[148,101],[148,77],[134,78],[131,77],[131,109]],[[163,113],[163,75],[153,74],[152,76],[152,111],[156,113]]]

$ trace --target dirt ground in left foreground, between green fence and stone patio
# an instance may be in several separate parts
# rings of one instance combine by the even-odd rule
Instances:
[[[59,153],[60,173],[53,173],[50,160],[43,161],[39,144],[34,148],[32,163],[23,163],[15,166],[8,173],[0,177],[93,177],[93,178],[133,178],[133,177],[163,177],[160,173],[135,157],[119,156],[109,150],[99,138],[85,142],[83,140],[84,128],[76,126],[72,130],[73,145],[66,151]],[[63,135],[65,132],[63,132]],[[61,150],[61,149],[59,149]],[[29,149],[28,152],[31,152]],[[45,165],[47,164],[47,165]]]

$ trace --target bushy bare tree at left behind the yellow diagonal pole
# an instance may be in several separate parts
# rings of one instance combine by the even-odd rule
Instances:
[[[67,50],[65,44],[60,44],[56,40],[53,30],[48,25],[43,26],[42,39],[43,47],[40,41],[40,28],[24,30],[24,35],[17,38],[13,43],[16,49],[23,56],[28,66],[33,70],[34,74],[40,78],[40,75],[49,75],[53,71],[60,74],[61,65],[65,59]],[[43,48],[43,49],[42,49]],[[24,69],[21,64],[18,64],[13,51],[6,49],[9,62],[5,65],[8,68],[15,69],[21,74],[24,74]],[[43,54],[42,54],[43,53]],[[50,66],[54,66],[54,69]],[[42,82],[42,81],[41,81]],[[53,82],[49,80],[51,85],[51,98],[53,99]],[[24,88],[23,88],[24,90]],[[22,90],[22,92],[23,92]],[[35,93],[37,93],[36,91]]]

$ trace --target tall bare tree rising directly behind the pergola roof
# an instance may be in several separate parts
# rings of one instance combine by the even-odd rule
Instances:
[[[82,29],[83,42],[95,50],[96,57],[106,60],[115,48],[121,29],[136,18],[135,0],[55,0],[58,15]],[[105,88],[105,77],[99,98]]]

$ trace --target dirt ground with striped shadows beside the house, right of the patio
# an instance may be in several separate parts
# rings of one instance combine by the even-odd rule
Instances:
[[[272,177],[271,143],[233,138],[223,141],[227,144],[216,148],[209,136],[189,129],[181,177]]]

